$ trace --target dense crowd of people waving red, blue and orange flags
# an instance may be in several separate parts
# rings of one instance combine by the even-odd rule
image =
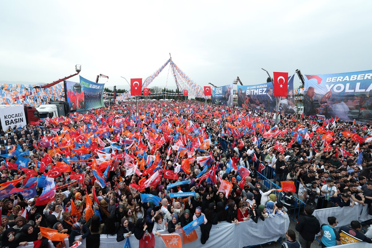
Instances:
[[[200,216],[205,244],[219,222],[288,218],[295,193],[264,189],[260,174],[311,188],[318,197],[302,219],[315,207],[362,204],[372,213],[369,125],[293,114],[275,125],[272,112],[196,101],[140,103],[132,113],[135,104],[124,102],[1,129],[2,247],[46,247],[40,228],[68,234],[70,245],[81,235],[78,241],[89,237],[87,246],[98,247],[100,234],[118,242],[160,236]],[[220,187],[225,181],[231,190]],[[170,197],[189,192],[195,196]],[[142,199],[148,195],[160,200]],[[329,233],[335,220],[328,222],[318,231]],[[309,247],[314,236],[299,223],[299,242]],[[295,243],[294,231],[286,237]]]

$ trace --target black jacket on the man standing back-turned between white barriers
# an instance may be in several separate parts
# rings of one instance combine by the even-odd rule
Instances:
[[[296,231],[300,233],[306,241],[314,241],[315,235],[320,232],[320,223],[314,215],[302,214],[298,218]]]

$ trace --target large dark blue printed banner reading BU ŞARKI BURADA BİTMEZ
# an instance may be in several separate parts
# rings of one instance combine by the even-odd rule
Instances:
[[[288,77],[288,94],[287,97],[282,97],[280,99],[280,112],[295,113],[297,111],[293,93],[293,81],[293,77]],[[274,96],[273,84],[269,82],[248,86],[238,85],[238,106],[275,112],[276,98]]]

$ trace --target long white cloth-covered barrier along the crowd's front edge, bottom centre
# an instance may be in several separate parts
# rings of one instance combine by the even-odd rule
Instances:
[[[266,242],[273,242],[279,238],[285,236],[285,233],[289,226],[289,218],[286,216],[275,216],[275,218],[267,218],[264,221],[259,220],[258,223],[254,223],[253,220],[248,220],[240,222],[239,225],[235,223],[221,222],[217,225],[213,225],[211,232],[209,234],[209,239],[205,245],[201,245],[200,228],[196,229],[198,234],[198,239],[189,244],[183,244],[183,248],[195,248],[203,246],[205,248],[215,248],[215,247],[236,247],[242,248],[251,245],[264,244]],[[164,232],[168,233],[168,232]],[[180,233],[182,237],[182,233]],[[80,236],[77,236],[78,239]],[[131,247],[139,247],[139,241],[134,235],[129,237]],[[100,235],[100,247],[105,248],[122,248],[124,246],[124,241],[116,242],[116,235]],[[68,238],[65,238],[66,247],[70,247],[68,244]],[[53,244],[49,241],[49,248],[53,248]],[[86,247],[86,241],[83,240],[81,246]],[[155,247],[156,248],[166,248],[166,245],[158,236],[155,236]],[[33,243],[29,243],[22,248],[33,248]]]

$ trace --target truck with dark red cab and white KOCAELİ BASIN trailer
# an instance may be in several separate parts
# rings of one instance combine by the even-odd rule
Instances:
[[[31,122],[37,122],[38,120],[40,120],[40,114],[38,112],[38,110],[33,107],[33,106],[28,106],[26,104],[13,104],[13,105],[0,105],[0,109],[4,110],[4,114],[3,115],[6,115],[6,114],[9,114],[9,115],[12,115],[13,113],[15,113],[15,111],[13,111],[13,109],[19,109],[20,107],[23,107],[23,116],[19,116],[19,118],[16,120],[16,118],[7,118],[7,120],[9,120],[10,122],[12,123],[7,123],[7,120],[5,119],[2,119],[1,120],[1,125],[3,126],[3,128],[7,128],[8,126],[12,126],[13,124],[16,124],[16,122],[22,122],[24,123],[24,121],[27,123],[27,124],[31,124]],[[21,111],[22,112],[22,111]],[[24,119],[23,119],[24,117]]]

